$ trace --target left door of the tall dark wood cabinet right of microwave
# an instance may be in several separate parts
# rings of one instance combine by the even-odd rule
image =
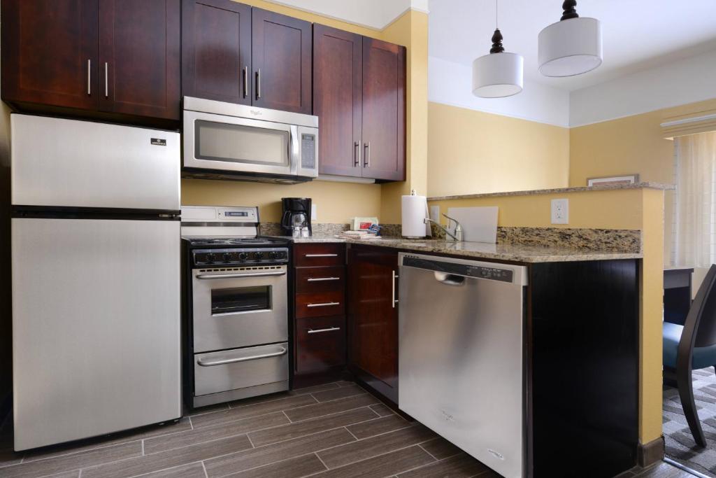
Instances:
[[[362,176],[363,37],[314,24],[314,115],[319,173]]]

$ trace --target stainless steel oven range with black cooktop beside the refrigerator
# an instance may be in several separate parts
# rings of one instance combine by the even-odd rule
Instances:
[[[182,214],[186,402],[288,390],[288,242],[257,235],[255,207]]]

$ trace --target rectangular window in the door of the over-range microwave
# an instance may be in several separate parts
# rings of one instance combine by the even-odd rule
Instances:
[[[195,158],[229,163],[289,166],[286,130],[195,121]]]

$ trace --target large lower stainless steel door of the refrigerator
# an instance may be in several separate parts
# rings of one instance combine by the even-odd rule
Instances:
[[[177,419],[178,221],[12,219],[15,449]]]

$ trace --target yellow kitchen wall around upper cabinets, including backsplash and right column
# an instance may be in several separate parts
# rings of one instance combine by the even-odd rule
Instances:
[[[320,222],[344,223],[352,216],[377,216],[384,224],[400,222],[400,195],[411,188],[427,191],[427,14],[407,11],[378,32],[262,0],[241,3],[407,47],[407,181],[383,185],[313,181],[286,186],[183,179],[182,204],[257,205],[262,221],[275,222],[280,219],[282,197],[306,196],[314,200]]]

